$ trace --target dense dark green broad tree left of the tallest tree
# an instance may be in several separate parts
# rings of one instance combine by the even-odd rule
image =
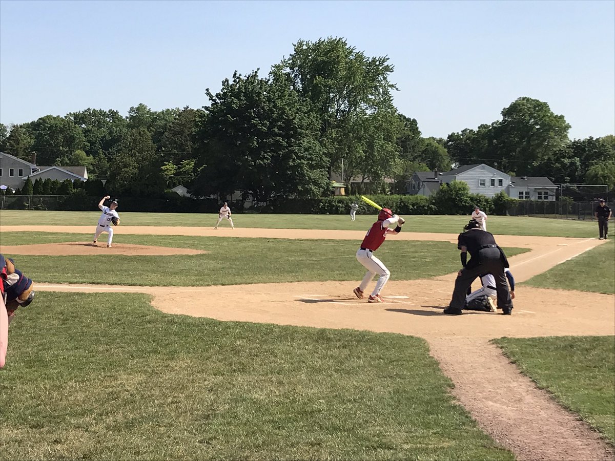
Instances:
[[[220,92],[207,89],[210,106],[197,124],[198,171],[191,190],[200,196],[239,190],[257,202],[314,197],[328,186],[318,143],[319,120],[273,69],[235,72]]]

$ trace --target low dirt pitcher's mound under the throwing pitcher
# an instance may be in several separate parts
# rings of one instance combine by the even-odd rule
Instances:
[[[127,256],[170,256],[172,254],[204,254],[208,251],[192,248],[168,248],[167,246],[132,245],[113,243],[107,248],[106,242],[58,242],[37,245],[0,246],[3,254],[33,254],[41,256],[75,256],[98,254],[125,254]]]

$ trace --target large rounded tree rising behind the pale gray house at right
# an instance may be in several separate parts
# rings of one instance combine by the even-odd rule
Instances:
[[[569,142],[569,129],[564,116],[554,114],[549,104],[518,98],[502,110],[502,120],[493,124],[498,169],[533,174],[536,165],[552,159]]]

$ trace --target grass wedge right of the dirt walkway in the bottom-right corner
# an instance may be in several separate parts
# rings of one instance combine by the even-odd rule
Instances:
[[[501,338],[493,342],[540,388],[615,444],[615,337]]]

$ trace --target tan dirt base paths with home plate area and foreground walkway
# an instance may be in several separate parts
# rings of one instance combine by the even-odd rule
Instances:
[[[48,230],[91,233],[90,226],[15,227],[22,226],[2,226],[0,232]],[[114,238],[118,240],[122,234],[171,234],[344,239],[357,240],[358,243],[364,235],[364,232],[350,230],[213,230],[204,227],[151,226],[118,226],[117,229]],[[456,243],[456,237],[456,234],[402,232],[393,238]],[[595,238],[498,235],[496,239],[501,246],[531,249],[528,253],[510,258],[517,282],[528,280],[604,243]],[[117,248],[121,250],[119,245]],[[71,246],[77,244],[66,244],[65,250],[68,251]],[[2,251],[7,251],[5,248],[9,247],[2,247]],[[103,249],[90,248],[92,253],[88,254],[100,254],[99,250]],[[451,247],[451,251],[456,251],[456,245]],[[25,254],[18,251],[12,253]],[[359,276],[362,274],[360,269],[357,262]],[[365,299],[357,299],[352,289],[358,282],[168,288],[41,283],[37,287],[41,291],[146,293],[152,296],[154,307],[163,312],[218,320],[365,329],[420,336],[429,342],[432,355],[440,362],[443,372],[453,380],[453,393],[459,402],[470,411],[483,430],[513,451],[518,459],[614,459],[611,446],[520,374],[488,340],[502,336],[614,335],[615,296],[521,285],[515,291],[517,297],[513,315],[467,312],[456,317],[442,313],[443,307],[450,301],[455,274],[413,281],[395,281],[394,277],[395,269],[392,268],[393,280],[387,284],[384,293],[386,304],[368,304]]]

